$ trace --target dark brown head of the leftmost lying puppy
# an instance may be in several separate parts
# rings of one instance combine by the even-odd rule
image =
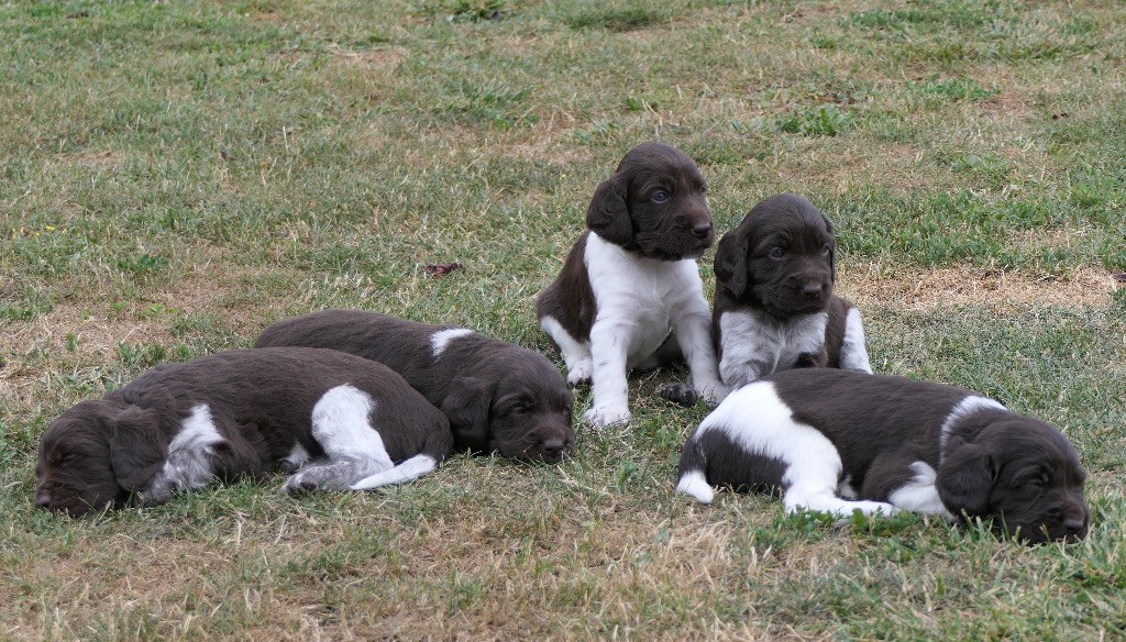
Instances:
[[[74,405],[39,440],[36,506],[79,517],[124,505],[163,462],[157,435],[148,410],[105,401]]]

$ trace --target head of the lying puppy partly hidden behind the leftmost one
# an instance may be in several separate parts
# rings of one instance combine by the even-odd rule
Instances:
[[[573,399],[546,357],[520,350],[520,359],[481,364],[454,382],[443,411],[461,444],[506,457],[558,462],[574,447]]]

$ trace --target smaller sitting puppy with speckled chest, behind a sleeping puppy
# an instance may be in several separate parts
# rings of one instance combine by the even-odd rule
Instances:
[[[715,252],[712,323],[723,382],[736,389],[799,367],[872,373],[860,312],[833,294],[833,226],[812,203],[759,203]]]

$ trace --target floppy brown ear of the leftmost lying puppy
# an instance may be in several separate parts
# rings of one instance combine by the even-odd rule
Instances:
[[[155,413],[131,405],[111,418],[109,426],[109,463],[118,485],[129,492],[144,490],[168,458]]]

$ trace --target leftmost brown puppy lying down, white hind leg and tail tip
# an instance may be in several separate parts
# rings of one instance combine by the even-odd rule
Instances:
[[[35,503],[80,516],[275,470],[297,471],[291,493],[363,490],[411,481],[453,449],[446,417],[379,364],[231,350],[157,366],[64,412],[39,443]]]

